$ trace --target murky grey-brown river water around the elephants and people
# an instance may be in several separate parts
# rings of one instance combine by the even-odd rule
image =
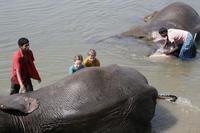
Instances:
[[[74,55],[97,51],[102,66],[136,68],[159,93],[179,96],[177,103],[158,101],[155,133],[200,133],[200,58],[148,58],[152,46],[134,38],[117,38],[143,17],[175,0],[0,0],[0,93],[9,95],[12,56],[17,40],[27,37],[42,83],[68,75]],[[199,0],[182,0],[200,13]],[[191,20],[192,21],[192,20]],[[107,39],[105,39],[107,38]],[[101,40],[101,41],[100,41]]]

